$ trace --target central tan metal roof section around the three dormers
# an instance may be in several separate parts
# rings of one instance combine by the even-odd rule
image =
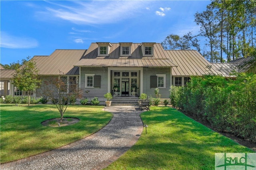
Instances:
[[[120,56],[120,43],[111,43],[109,55],[98,56],[98,44],[91,43],[84,57],[74,66],[80,67],[175,67],[160,43],[154,44],[154,56],[143,57],[141,43],[131,44],[131,55]]]

